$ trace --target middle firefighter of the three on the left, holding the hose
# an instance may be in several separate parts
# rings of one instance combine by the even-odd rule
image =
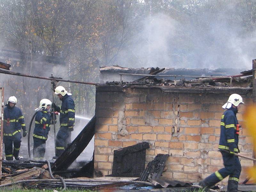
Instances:
[[[36,109],[36,111],[40,110],[36,114],[35,129],[33,133],[33,158],[36,160],[44,158],[45,142],[48,138],[53,116],[53,113],[51,113],[51,107],[52,102],[49,99],[42,99],[39,103],[39,107]]]

